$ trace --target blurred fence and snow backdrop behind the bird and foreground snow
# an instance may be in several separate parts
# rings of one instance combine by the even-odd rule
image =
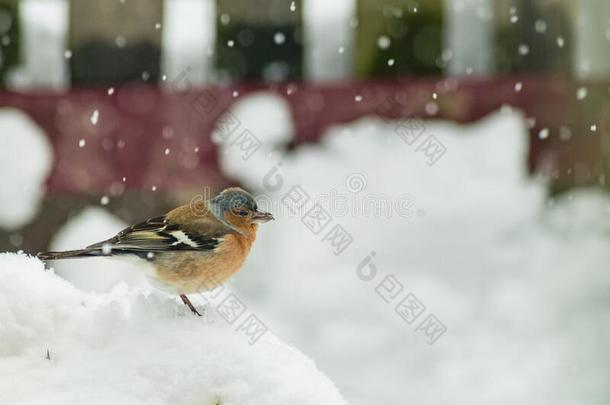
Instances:
[[[239,184],[233,288],[351,403],[606,404],[609,79],[603,0],[0,0],[0,250]]]

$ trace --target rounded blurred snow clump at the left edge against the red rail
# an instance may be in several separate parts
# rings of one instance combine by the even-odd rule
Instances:
[[[0,229],[16,229],[36,215],[51,171],[51,145],[22,111],[0,109]]]

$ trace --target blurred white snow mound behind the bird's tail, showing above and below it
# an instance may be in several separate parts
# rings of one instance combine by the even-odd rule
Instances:
[[[51,242],[51,250],[75,250],[109,239],[127,224],[99,207],[88,207],[66,223]],[[84,291],[108,292],[118,283],[145,286],[144,261],[123,261],[104,257],[59,260],[52,263],[55,273]]]

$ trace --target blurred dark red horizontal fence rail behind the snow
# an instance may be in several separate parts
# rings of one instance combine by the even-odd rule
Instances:
[[[521,85],[516,87],[517,82]],[[597,87],[607,94],[606,85]],[[250,84],[182,92],[128,86],[112,91],[3,92],[0,106],[22,109],[48,135],[56,157],[48,179],[50,193],[103,192],[119,183],[137,189],[226,182],[218,168],[211,134],[219,117],[238,100],[235,91],[244,97],[263,90],[287,101],[295,122],[296,144],[315,142],[330,125],[366,115],[431,117],[430,103],[436,105],[434,118],[460,123],[510,105],[530,117],[532,169],[550,156],[560,180],[571,176],[570,167],[584,164],[590,168],[590,176],[568,181],[594,182],[596,171],[604,170],[600,145],[604,144],[604,134],[610,132],[604,119],[606,106],[601,105],[601,112],[596,113],[600,130],[597,136],[591,136],[581,117],[576,89],[577,85],[568,80],[537,77]],[[96,125],[91,122],[94,111],[99,114]],[[570,128],[571,139],[553,136],[562,127]],[[541,140],[537,135],[543,128],[548,128],[551,136]],[[86,147],[79,146],[80,140]],[[171,150],[171,158],[163,153],[165,149]]]

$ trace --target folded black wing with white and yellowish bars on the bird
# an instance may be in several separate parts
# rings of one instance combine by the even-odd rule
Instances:
[[[165,216],[151,218],[119,232],[114,238],[88,246],[134,252],[174,250],[213,250],[220,243],[219,235],[194,232],[167,220]]]

